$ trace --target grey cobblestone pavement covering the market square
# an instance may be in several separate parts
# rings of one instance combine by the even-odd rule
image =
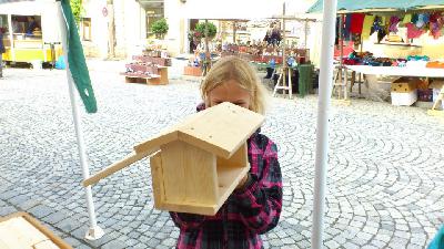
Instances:
[[[121,68],[119,68],[121,66]],[[82,124],[91,173],[193,113],[198,84],[124,84],[123,65],[91,66],[99,112]],[[148,159],[93,187],[105,236],[88,216],[62,71],[7,69],[0,80],[0,216],[24,210],[74,248],[172,248],[179,236],[153,209]],[[444,224],[444,122],[425,110],[363,100],[333,104],[326,248],[425,248]],[[266,248],[310,248],[316,97],[271,100],[263,133],[279,144],[284,206]]]

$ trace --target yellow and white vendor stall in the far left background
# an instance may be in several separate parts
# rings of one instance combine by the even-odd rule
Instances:
[[[0,27],[7,30],[3,61],[53,65],[62,54],[57,13],[54,0],[1,3]]]

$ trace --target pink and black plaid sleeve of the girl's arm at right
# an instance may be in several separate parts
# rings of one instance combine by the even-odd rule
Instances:
[[[244,189],[234,191],[243,224],[258,234],[273,229],[282,209],[282,176],[276,145],[269,141],[262,158],[262,177],[251,174]]]

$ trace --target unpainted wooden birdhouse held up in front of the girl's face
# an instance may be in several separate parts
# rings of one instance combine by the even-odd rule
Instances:
[[[155,208],[215,215],[249,172],[246,139],[263,122],[261,114],[228,102],[219,104],[137,145],[135,154],[83,185],[151,155]]]

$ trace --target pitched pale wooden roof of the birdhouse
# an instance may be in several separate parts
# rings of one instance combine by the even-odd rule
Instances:
[[[182,141],[218,156],[229,158],[261,126],[261,114],[224,102],[192,114],[158,136],[134,147],[137,153]]]

